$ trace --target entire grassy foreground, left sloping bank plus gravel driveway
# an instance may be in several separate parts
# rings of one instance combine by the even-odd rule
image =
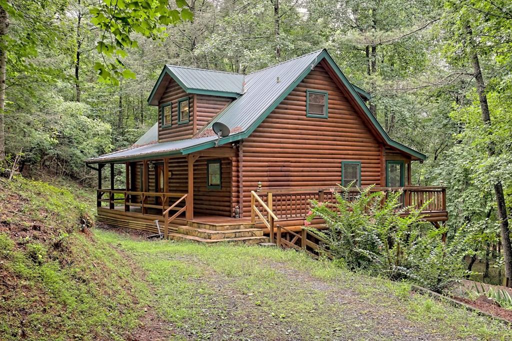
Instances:
[[[512,339],[300,252],[81,232],[94,203],[72,183],[0,181],[0,341]]]

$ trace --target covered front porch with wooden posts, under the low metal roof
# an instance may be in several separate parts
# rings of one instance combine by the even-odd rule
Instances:
[[[219,147],[185,156],[90,166],[98,172],[98,221],[150,232],[158,231],[158,221],[167,235],[188,222],[234,220],[238,202],[232,194],[237,176],[233,156],[233,148]]]

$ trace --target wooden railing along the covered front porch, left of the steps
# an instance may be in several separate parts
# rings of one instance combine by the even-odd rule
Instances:
[[[104,199],[104,195],[108,195],[108,199]],[[102,202],[108,202],[110,209],[115,209],[117,204],[124,206],[124,211],[129,212],[130,207],[140,207],[142,214],[147,214],[148,208],[161,209],[162,213],[170,208],[168,203],[170,199],[182,198],[183,193],[158,193],[158,192],[138,192],[125,189],[98,189],[97,190],[97,206],[101,207]],[[149,203],[148,199],[154,198],[154,203]],[[157,203],[156,198],[160,198]],[[119,206],[119,205],[118,205]],[[172,209],[179,210],[176,204],[171,206]]]

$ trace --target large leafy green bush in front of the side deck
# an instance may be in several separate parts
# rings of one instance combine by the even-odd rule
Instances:
[[[311,201],[307,218],[326,221],[328,229],[309,230],[328,241],[324,249],[338,263],[393,280],[412,280],[436,292],[464,276],[467,238],[457,235],[443,243],[445,230],[421,221],[424,207],[401,207],[401,191],[386,194],[369,186],[349,200],[349,188],[341,188],[334,193],[335,203]],[[408,215],[400,216],[404,212]]]

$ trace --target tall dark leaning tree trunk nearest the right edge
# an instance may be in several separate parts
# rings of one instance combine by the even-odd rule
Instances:
[[[472,38],[471,28],[468,27],[467,30],[470,34],[470,38]],[[491,131],[492,125],[490,121],[489,105],[487,103],[487,95],[485,94],[485,82],[483,80],[482,70],[480,69],[480,61],[476,51],[473,51],[471,59],[473,72],[477,82],[477,92],[480,101],[480,110],[482,111],[482,121],[487,129]],[[487,155],[491,157],[494,156],[494,154],[494,143],[489,142],[487,144]],[[512,283],[510,282],[510,276],[512,275],[512,246],[510,245],[510,230],[508,228],[507,208],[505,206],[505,197],[503,195],[503,186],[501,182],[494,184],[494,193],[496,196],[496,204],[498,206],[498,218],[500,220],[501,242],[503,246],[503,259],[505,261],[505,285],[507,287],[512,287]]]

